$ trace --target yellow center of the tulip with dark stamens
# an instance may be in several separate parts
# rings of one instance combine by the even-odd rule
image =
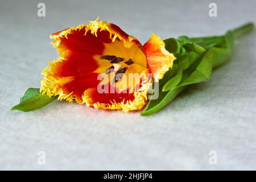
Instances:
[[[139,76],[147,73],[146,55],[143,49],[138,44],[125,47],[121,40],[104,45],[102,54],[95,54],[93,57],[98,64],[94,73],[106,74],[100,84],[110,83],[118,90],[135,88],[140,80]]]

